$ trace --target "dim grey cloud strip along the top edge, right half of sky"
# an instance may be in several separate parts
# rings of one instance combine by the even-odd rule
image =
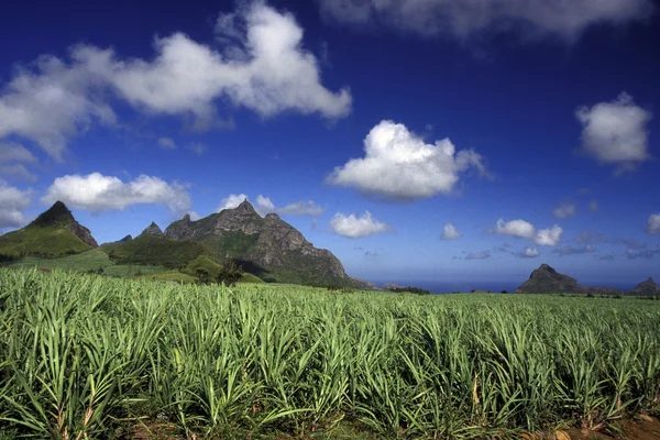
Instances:
[[[459,41],[488,34],[574,41],[595,24],[625,24],[652,11],[650,0],[318,0],[324,15]]]

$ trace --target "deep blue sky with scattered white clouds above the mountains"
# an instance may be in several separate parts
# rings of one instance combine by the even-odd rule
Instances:
[[[462,4],[3,8],[0,230],[246,196],[371,280],[660,278],[658,8]]]

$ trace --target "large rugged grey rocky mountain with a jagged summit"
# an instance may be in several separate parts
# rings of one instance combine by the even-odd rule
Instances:
[[[237,258],[264,280],[364,287],[330,251],[315,248],[276,213],[262,218],[248,200],[197,221],[186,216],[167,227],[165,237],[202,243],[220,261]]]

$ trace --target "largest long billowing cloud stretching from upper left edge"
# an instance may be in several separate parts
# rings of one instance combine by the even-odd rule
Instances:
[[[231,20],[222,15],[216,31],[219,51],[174,33],[156,38],[155,56],[146,61],[82,44],[70,48],[68,61],[43,55],[19,67],[0,92],[0,139],[22,136],[62,161],[69,138],[92,123],[116,123],[110,98],[147,114],[193,116],[198,125],[219,119],[218,102],[262,117],[350,113],[349,89],[322,86],[319,63],[302,47],[302,29],[290,13],[254,1]]]

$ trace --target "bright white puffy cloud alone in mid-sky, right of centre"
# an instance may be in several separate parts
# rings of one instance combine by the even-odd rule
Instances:
[[[381,121],[371,130],[364,151],[365,157],[336,167],[328,182],[392,199],[418,199],[450,193],[459,173],[471,167],[485,172],[474,151],[455,153],[449,139],[427,144],[393,121]]]

